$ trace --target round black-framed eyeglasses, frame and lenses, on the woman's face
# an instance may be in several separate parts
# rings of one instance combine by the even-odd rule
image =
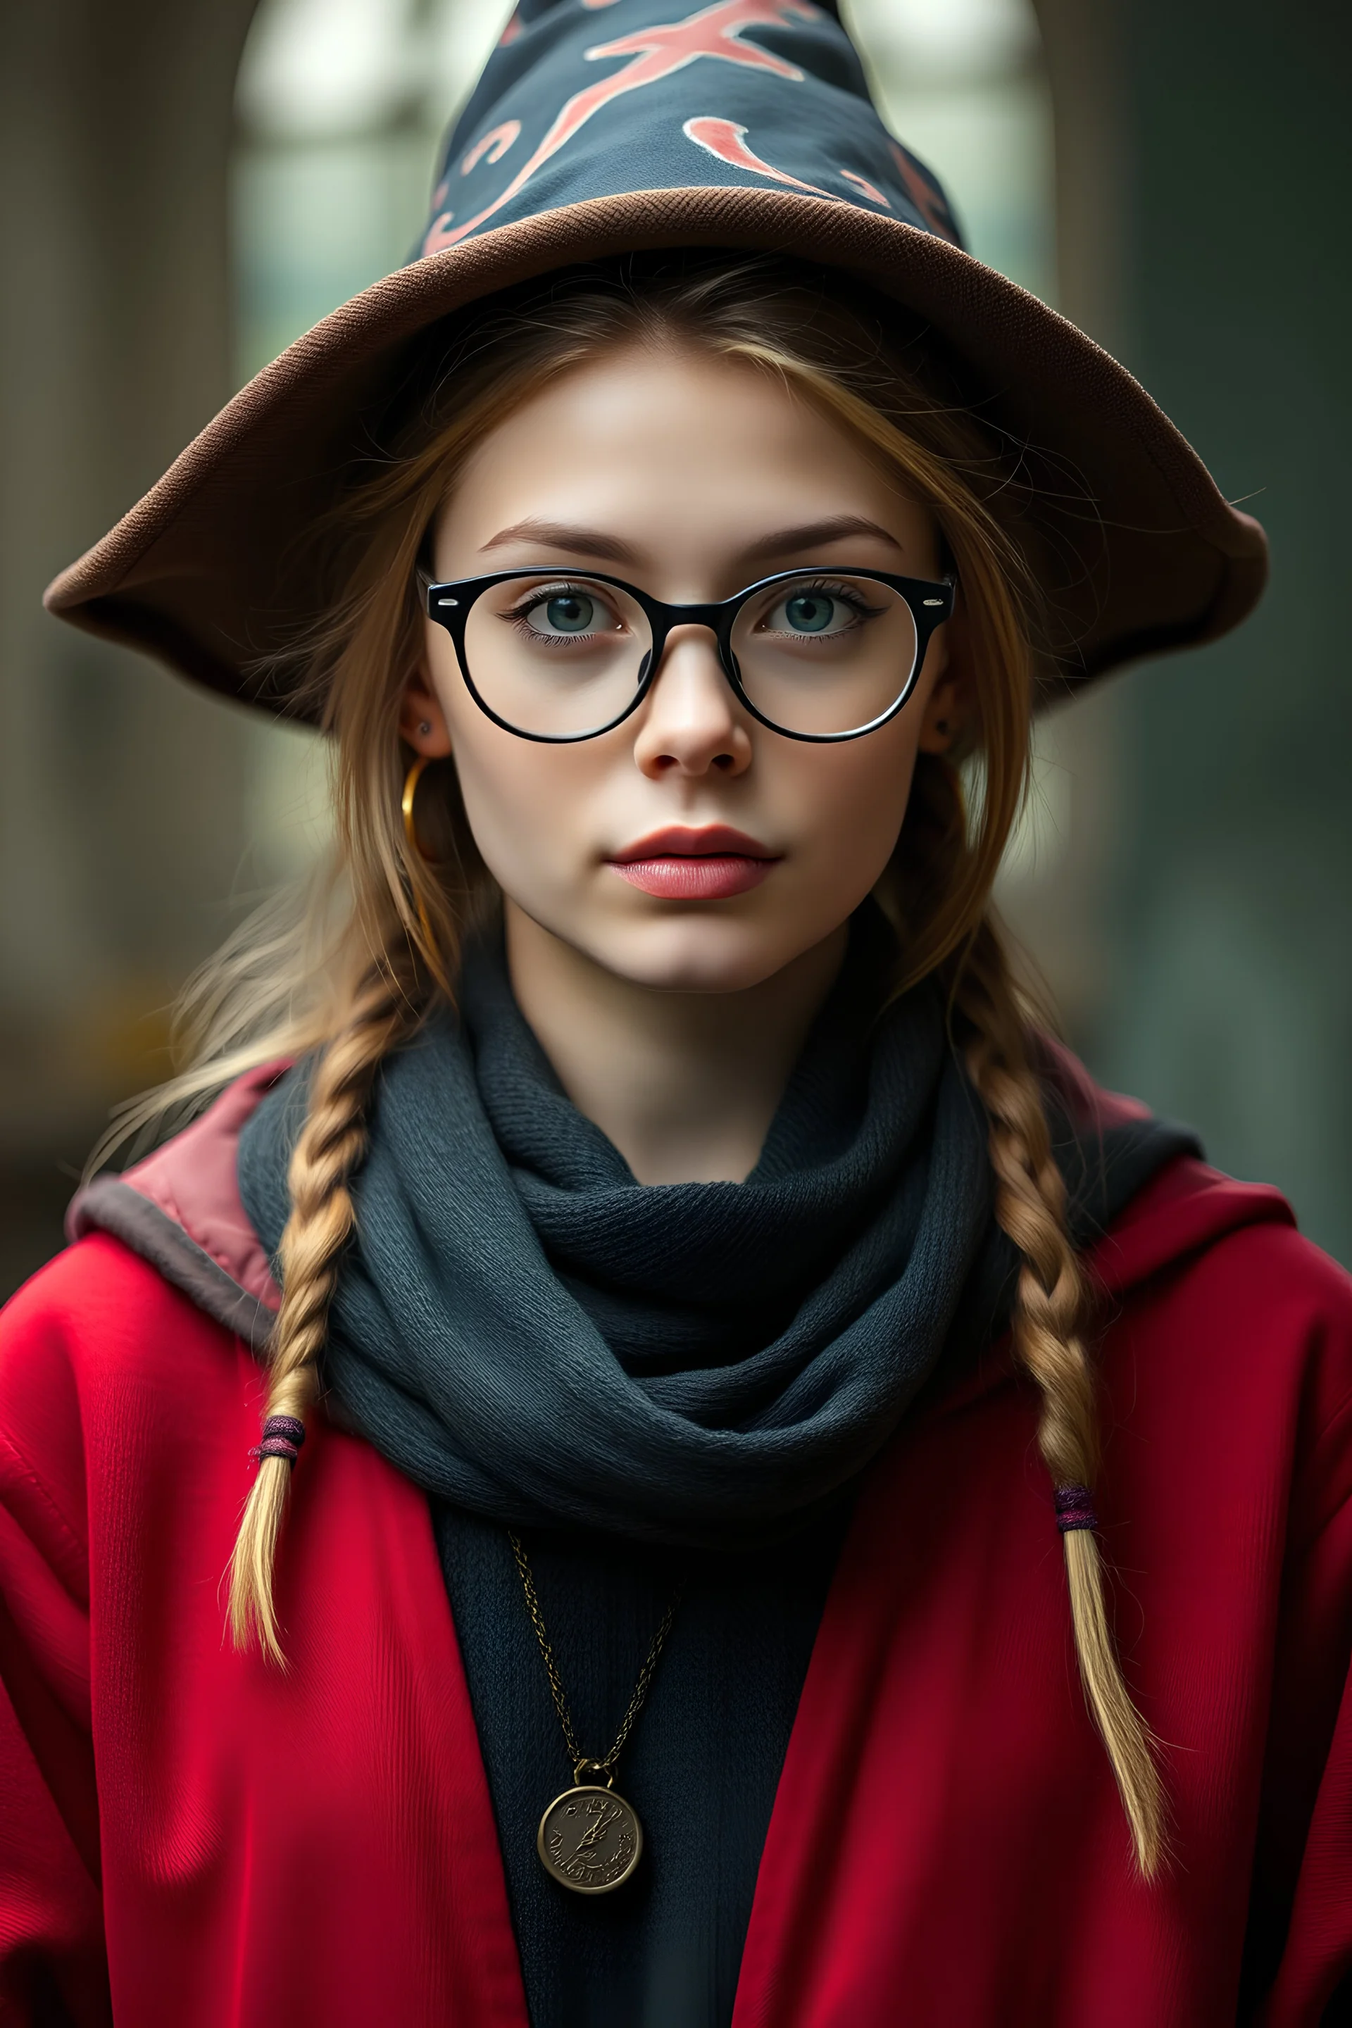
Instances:
[[[669,606],[586,570],[495,570],[428,586],[474,704],[523,740],[612,732],[653,687],[673,627],[707,627],[752,718],[791,740],[857,740],[902,710],[955,580],[778,570],[734,598]]]

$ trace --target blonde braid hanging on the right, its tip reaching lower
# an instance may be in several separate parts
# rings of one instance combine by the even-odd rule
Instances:
[[[1038,1448],[1056,1487],[1070,1616],[1084,1697],[1107,1746],[1141,1874],[1166,1850],[1163,1793],[1151,1736],[1113,1647],[1091,1489],[1099,1466],[1095,1383],[1084,1347],[1091,1290],[1066,1231],[1066,1186],[1052,1158],[1038,1075],[999,931],[985,917],[953,982],[969,1077],[989,1115],[995,1217],[1024,1255],[1011,1334],[1042,1389]]]

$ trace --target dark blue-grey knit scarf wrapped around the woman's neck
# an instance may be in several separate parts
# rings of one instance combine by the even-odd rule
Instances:
[[[322,1375],[345,1420],[515,1525],[748,1545],[829,1503],[941,1355],[989,1343],[1016,1268],[938,994],[878,1012],[892,957],[870,904],[746,1182],[643,1186],[564,1095],[501,941],[474,947],[462,1018],[377,1079]],[[239,1148],[274,1253],[304,1087],[300,1067]],[[1078,1239],[1194,1146],[1060,1121]]]

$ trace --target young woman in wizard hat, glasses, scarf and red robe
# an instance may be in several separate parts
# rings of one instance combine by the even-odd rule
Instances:
[[[6,1312],[6,2018],[1313,2028],[1348,1284],[989,907],[1040,692],[1261,535],[819,8],[523,12],[51,594],[336,836]]]

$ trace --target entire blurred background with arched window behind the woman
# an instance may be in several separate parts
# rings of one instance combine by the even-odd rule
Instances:
[[[322,831],[322,758],[47,580],[397,266],[507,0],[0,0],[0,1294],[168,1004]],[[1259,614],[1048,722],[1003,878],[1095,1073],[1352,1261],[1344,0],[853,0],[973,251],[1145,381],[1273,541]]]

